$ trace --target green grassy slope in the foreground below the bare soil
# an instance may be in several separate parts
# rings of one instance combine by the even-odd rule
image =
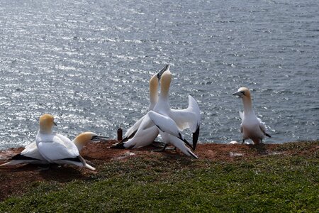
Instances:
[[[287,143],[278,151],[308,146]],[[89,180],[35,182],[1,202],[0,212],[318,212],[317,152],[235,159],[114,160]]]

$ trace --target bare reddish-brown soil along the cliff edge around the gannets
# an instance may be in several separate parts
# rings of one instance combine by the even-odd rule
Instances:
[[[113,149],[109,148],[117,141],[101,141],[99,143],[89,143],[81,152],[81,155],[91,161],[91,165],[96,167],[96,171],[86,168],[79,168],[72,165],[52,165],[50,170],[40,171],[38,165],[12,165],[0,168],[0,201],[12,195],[22,195],[29,187],[36,185],[37,182],[57,181],[69,182],[72,180],[88,180],[90,176],[99,173],[99,165],[110,162],[111,160],[128,160],[136,156],[144,158],[154,158],[155,155],[166,155],[171,160],[177,158],[189,158],[179,151],[155,152],[158,147],[147,146],[137,149]],[[298,142],[297,142],[298,143]],[[260,145],[231,145],[206,143],[198,144],[196,155],[201,159],[233,161],[240,158],[256,158],[263,155],[309,155],[318,153],[318,143],[307,148],[307,151],[280,150],[281,144],[260,144]],[[23,148],[10,148],[6,151],[0,151],[0,164],[5,163],[5,159],[10,158],[23,151]]]

